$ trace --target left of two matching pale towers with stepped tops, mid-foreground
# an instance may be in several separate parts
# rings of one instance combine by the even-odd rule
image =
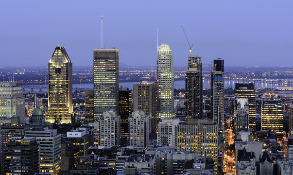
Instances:
[[[100,117],[100,146],[111,147],[120,144],[120,116],[113,110],[103,112]]]

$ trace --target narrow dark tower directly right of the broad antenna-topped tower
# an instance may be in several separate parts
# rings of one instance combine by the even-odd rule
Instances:
[[[119,88],[119,115],[121,121],[121,135],[129,136],[128,117],[132,112],[132,92],[127,87]]]

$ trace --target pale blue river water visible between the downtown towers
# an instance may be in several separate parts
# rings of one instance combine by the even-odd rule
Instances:
[[[128,87],[129,89],[133,89],[133,84],[138,84],[140,82],[120,82],[120,86],[125,86]],[[249,83],[245,80],[225,80],[224,82],[224,87],[225,88],[235,88],[235,83]],[[45,86],[45,85],[34,85],[34,86]],[[256,82],[255,83],[255,88],[277,88],[280,87],[281,85],[278,84],[270,84],[270,83],[263,83],[263,82]],[[80,88],[80,84],[73,84],[73,88]],[[82,88],[93,88],[93,83],[85,83],[82,84]],[[185,88],[185,80],[177,80],[174,81],[174,88]],[[203,88],[210,88],[210,79],[206,78],[203,80]],[[25,93],[30,92],[31,89],[25,89]],[[34,89],[34,92],[39,92],[38,89]],[[47,89],[42,89],[42,93],[47,93]]]

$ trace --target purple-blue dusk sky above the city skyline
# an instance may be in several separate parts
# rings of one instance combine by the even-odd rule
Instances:
[[[64,46],[73,66],[92,66],[93,49],[116,47],[120,63],[155,66],[167,43],[174,66],[186,66],[189,47],[203,63],[293,66],[291,0],[1,0],[0,66],[46,67]]]

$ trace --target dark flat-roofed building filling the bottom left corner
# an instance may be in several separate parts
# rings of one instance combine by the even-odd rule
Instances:
[[[12,137],[2,150],[1,175],[36,175],[39,151],[34,137]]]

